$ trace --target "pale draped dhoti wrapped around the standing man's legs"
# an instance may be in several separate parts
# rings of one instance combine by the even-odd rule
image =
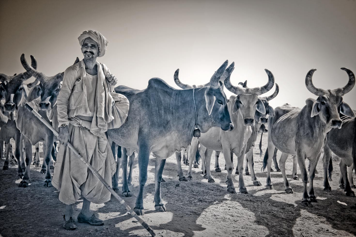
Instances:
[[[88,130],[91,122],[70,119],[68,132],[70,143],[80,155],[111,185],[111,177],[116,171],[116,163],[105,134],[98,137]],[[96,204],[110,200],[111,193],[88,169],[68,146],[59,147],[54,165],[52,185],[59,190],[59,200],[64,204],[74,204],[80,197]]]

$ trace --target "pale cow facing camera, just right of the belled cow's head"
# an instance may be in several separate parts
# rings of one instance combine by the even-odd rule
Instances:
[[[244,178],[242,176],[242,169],[244,166],[244,157],[246,152],[246,144],[248,138],[251,136],[251,125],[255,125],[255,111],[266,113],[266,108],[258,96],[268,92],[274,85],[274,76],[272,72],[265,69],[268,75],[268,82],[262,87],[255,88],[242,88],[231,85],[230,78],[224,81],[227,90],[236,94],[237,96],[231,96],[229,106],[229,113],[231,120],[235,125],[235,129],[231,133],[226,133],[219,128],[213,128],[206,134],[202,134],[199,140],[194,138],[192,145],[190,146],[190,154],[195,154],[198,141],[201,145],[210,150],[223,151],[226,168],[227,168],[227,192],[236,193],[234,183],[232,182],[232,162],[231,152],[234,152],[237,156],[237,168],[239,174],[239,191],[240,193],[247,193],[245,187]],[[210,157],[211,154],[206,155],[206,176],[208,182],[215,182],[211,177],[210,172]],[[188,169],[188,179],[192,179],[192,156],[190,158],[190,164]]]

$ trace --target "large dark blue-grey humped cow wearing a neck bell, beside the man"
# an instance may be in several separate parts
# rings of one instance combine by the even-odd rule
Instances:
[[[110,129],[107,133],[116,144],[126,148],[126,155],[138,150],[140,189],[134,208],[137,215],[145,213],[143,188],[147,181],[151,152],[156,157],[155,209],[163,212],[166,207],[161,200],[160,187],[166,158],[189,145],[195,126],[198,126],[201,133],[206,133],[214,126],[225,131],[234,128],[221,82],[226,79],[224,76],[230,76],[233,69],[231,65],[226,69],[227,63],[226,60],[216,70],[209,86],[196,90],[176,90],[162,79],[152,78],[145,90],[131,98],[127,96],[130,109],[126,122],[120,128]],[[225,69],[227,73],[223,76]],[[130,192],[128,186],[123,188],[123,192]]]

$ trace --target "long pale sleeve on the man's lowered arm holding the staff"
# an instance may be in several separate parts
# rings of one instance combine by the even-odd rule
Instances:
[[[72,93],[74,82],[77,80],[77,70],[73,66],[64,71],[63,84],[57,97],[58,127],[68,125],[68,102]]]

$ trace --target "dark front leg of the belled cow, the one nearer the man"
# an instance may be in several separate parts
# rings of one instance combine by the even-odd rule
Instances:
[[[138,168],[140,169],[140,174],[138,175],[138,182],[140,183],[140,189],[138,190],[136,205],[133,211],[135,211],[136,214],[140,216],[145,215],[145,211],[143,210],[143,189],[147,181],[147,167],[148,160],[150,158],[150,150],[146,145],[141,145],[139,150],[140,153],[138,153]]]

